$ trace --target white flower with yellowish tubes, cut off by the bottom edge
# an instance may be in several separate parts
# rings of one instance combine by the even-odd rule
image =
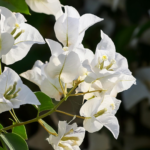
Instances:
[[[79,150],[84,136],[83,127],[77,127],[76,123],[68,125],[66,121],[59,121],[58,136],[50,135],[47,140],[55,150]]]

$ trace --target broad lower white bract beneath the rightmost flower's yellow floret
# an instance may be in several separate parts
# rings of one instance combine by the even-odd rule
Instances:
[[[103,90],[109,95],[116,97],[119,92],[129,89],[133,84],[136,84],[136,79],[132,75],[118,74],[102,70],[99,73],[89,73],[85,82],[92,83],[100,81]]]

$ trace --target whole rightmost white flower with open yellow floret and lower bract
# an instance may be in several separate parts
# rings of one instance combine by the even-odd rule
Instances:
[[[102,40],[97,45],[96,54],[91,63],[86,63],[89,71],[85,81],[88,83],[99,80],[100,82],[110,81],[114,85],[112,94],[127,90],[135,83],[135,78],[128,69],[128,63],[125,57],[116,53],[113,41],[103,32]],[[106,83],[105,83],[106,84]],[[102,85],[103,86],[103,85]],[[107,87],[111,85],[107,85]]]

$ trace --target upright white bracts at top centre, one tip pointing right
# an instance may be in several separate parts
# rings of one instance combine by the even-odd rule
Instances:
[[[57,39],[69,49],[78,46],[84,37],[85,31],[103,19],[85,14],[80,17],[77,10],[71,6],[65,6],[65,13],[56,21],[54,30]]]

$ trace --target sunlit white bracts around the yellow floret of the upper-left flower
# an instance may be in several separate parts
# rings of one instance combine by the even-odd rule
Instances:
[[[2,54],[2,62],[9,65],[23,59],[33,44],[44,44],[45,41],[37,29],[25,23],[26,19],[23,15],[12,13],[4,7],[0,7],[0,9],[5,18],[1,31],[7,33],[7,36],[8,34],[13,36],[4,39],[4,42],[8,43],[5,45],[9,47],[9,50],[7,50],[7,53]]]

